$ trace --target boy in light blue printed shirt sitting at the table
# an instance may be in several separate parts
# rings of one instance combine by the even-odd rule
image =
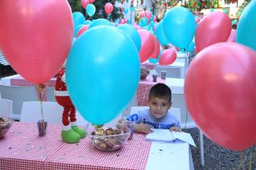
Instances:
[[[171,89],[168,86],[157,83],[151,87],[148,104],[149,109],[139,111],[127,118],[135,121],[135,132],[152,133],[151,128],[181,131],[178,120],[168,112],[171,108]]]

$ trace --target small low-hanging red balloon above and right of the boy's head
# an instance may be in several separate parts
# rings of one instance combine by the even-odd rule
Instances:
[[[175,62],[177,54],[174,49],[164,50],[160,56],[159,64],[160,66],[168,66]]]

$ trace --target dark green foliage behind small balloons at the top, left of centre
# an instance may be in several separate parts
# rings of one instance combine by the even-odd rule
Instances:
[[[96,0],[95,2],[93,2],[92,4],[95,5],[96,12],[92,17],[89,17],[85,9],[83,9],[83,7],[81,6],[81,0],[68,0],[68,2],[70,3],[72,12],[83,13],[86,19],[104,18],[114,20],[123,17],[121,9],[114,6],[114,0]],[[104,10],[104,6],[107,2],[110,2],[114,6],[113,12],[110,14],[110,16],[108,16]]]

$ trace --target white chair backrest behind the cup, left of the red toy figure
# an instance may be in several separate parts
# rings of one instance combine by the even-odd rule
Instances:
[[[63,107],[51,101],[42,101],[41,103],[44,118],[48,119],[51,124],[62,125]],[[37,119],[41,119],[41,103],[40,101],[23,102],[20,122],[37,122]]]

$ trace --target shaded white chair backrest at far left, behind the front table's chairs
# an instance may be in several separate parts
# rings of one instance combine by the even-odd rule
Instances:
[[[23,101],[38,101],[34,86],[4,86],[0,85],[1,97],[13,101],[13,116],[20,119]]]

